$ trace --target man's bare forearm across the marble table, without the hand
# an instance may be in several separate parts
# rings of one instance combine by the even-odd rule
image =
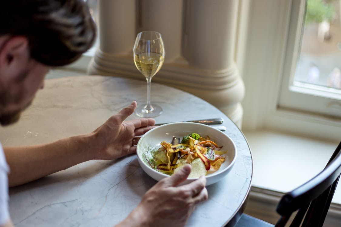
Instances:
[[[92,152],[87,146],[89,136],[78,135],[43,145],[4,147],[10,166],[9,186],[24,184],[91,160]]]

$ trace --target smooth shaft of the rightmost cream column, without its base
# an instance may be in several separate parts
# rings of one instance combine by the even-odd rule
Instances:
[[[235,0],[190,1],[188,60],[191,65],[213,70],[231,67],[237,7]]]

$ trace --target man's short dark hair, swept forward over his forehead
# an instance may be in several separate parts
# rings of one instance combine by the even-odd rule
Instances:
[[[93,44],[96,26],[84,0],[1,0],[0,35],[25,36],[36,61],[61,66]]]

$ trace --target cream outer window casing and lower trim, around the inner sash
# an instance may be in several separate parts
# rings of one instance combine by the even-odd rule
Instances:
[[[236,44],[236,51],[239,55],[243,52],[244,56],[242,61],[240,57],[236,59],[246,87],[242,130],[271,129],[340,141],[339,118],[279,105],[281,84],[288,81],[297,45],[297,27],[293,28],[290,23],[299,11],[293,3],[293,0],[240,3],[237,40],[246,40],[243,46]]]

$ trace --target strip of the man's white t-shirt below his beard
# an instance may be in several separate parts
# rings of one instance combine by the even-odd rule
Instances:
[[[8,174],[9,167],[0,143],[0,225],[4,225],[10,219],[8,211]]]

